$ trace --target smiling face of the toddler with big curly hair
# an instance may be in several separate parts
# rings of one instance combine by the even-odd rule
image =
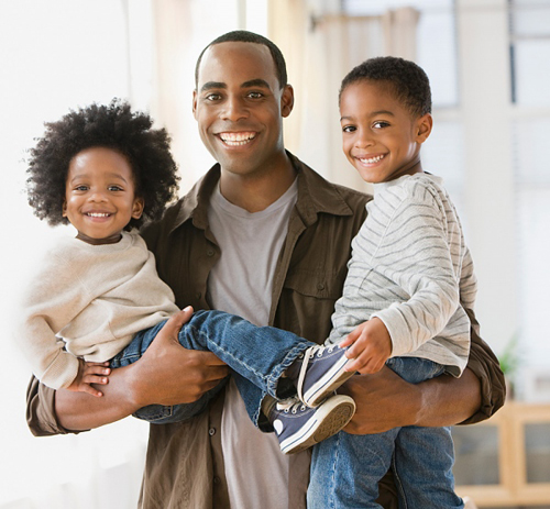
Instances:
[[[118,242],[124,226],[143,212],[132,168],[116,151],[91,147],[70,159],[63,217],[89,244]]]

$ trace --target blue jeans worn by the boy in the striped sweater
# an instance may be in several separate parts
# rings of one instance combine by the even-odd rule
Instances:
[[[413,384],[443,373],[439,364],[417,357],[395,357],[386,365]],[[463,508],[454,494],[453,463],[449,428],[404,427],[370,435],[340,431],[314,447],[308,509],[380,508],[378,482],[389,468],[399,509]]]

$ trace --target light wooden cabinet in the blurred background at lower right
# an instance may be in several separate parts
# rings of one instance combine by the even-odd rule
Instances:
[[[507,402],[453,439],[459,495],[480,508],[550,505],[550,405]]]

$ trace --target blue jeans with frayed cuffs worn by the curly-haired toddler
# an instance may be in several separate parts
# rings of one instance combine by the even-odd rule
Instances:
[[[111,359],[111,367],[128,366],[141,358],[164,323],[135,334],[132,342]],[[279,378],[302,351],[315,345],[292,332],[256,327],[222,311],[195,312],[178,338],[182,346],[210,351],[233,369],[244,406],[255,425],[258,425],[261,403],[266,395],[282,399],[296,394],[287,378],[282,383]],[[223,385],[218,384],[195,402],[173,407],[150,405],[138,410],[134,417],[156,424],[189,419],[202,412]],[[271,431],[267,424],[263,428]]]

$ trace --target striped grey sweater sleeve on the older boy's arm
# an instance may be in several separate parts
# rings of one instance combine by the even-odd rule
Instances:
[[[373,266],[409,296],[373,314],[388,329],[392,356],[435,338],[459,306],[460,266],[451,251],[460,250],[461,241],[460,234],[450,232],[447,212],[427,189],[407,195],[393,211],[374,254]]]

